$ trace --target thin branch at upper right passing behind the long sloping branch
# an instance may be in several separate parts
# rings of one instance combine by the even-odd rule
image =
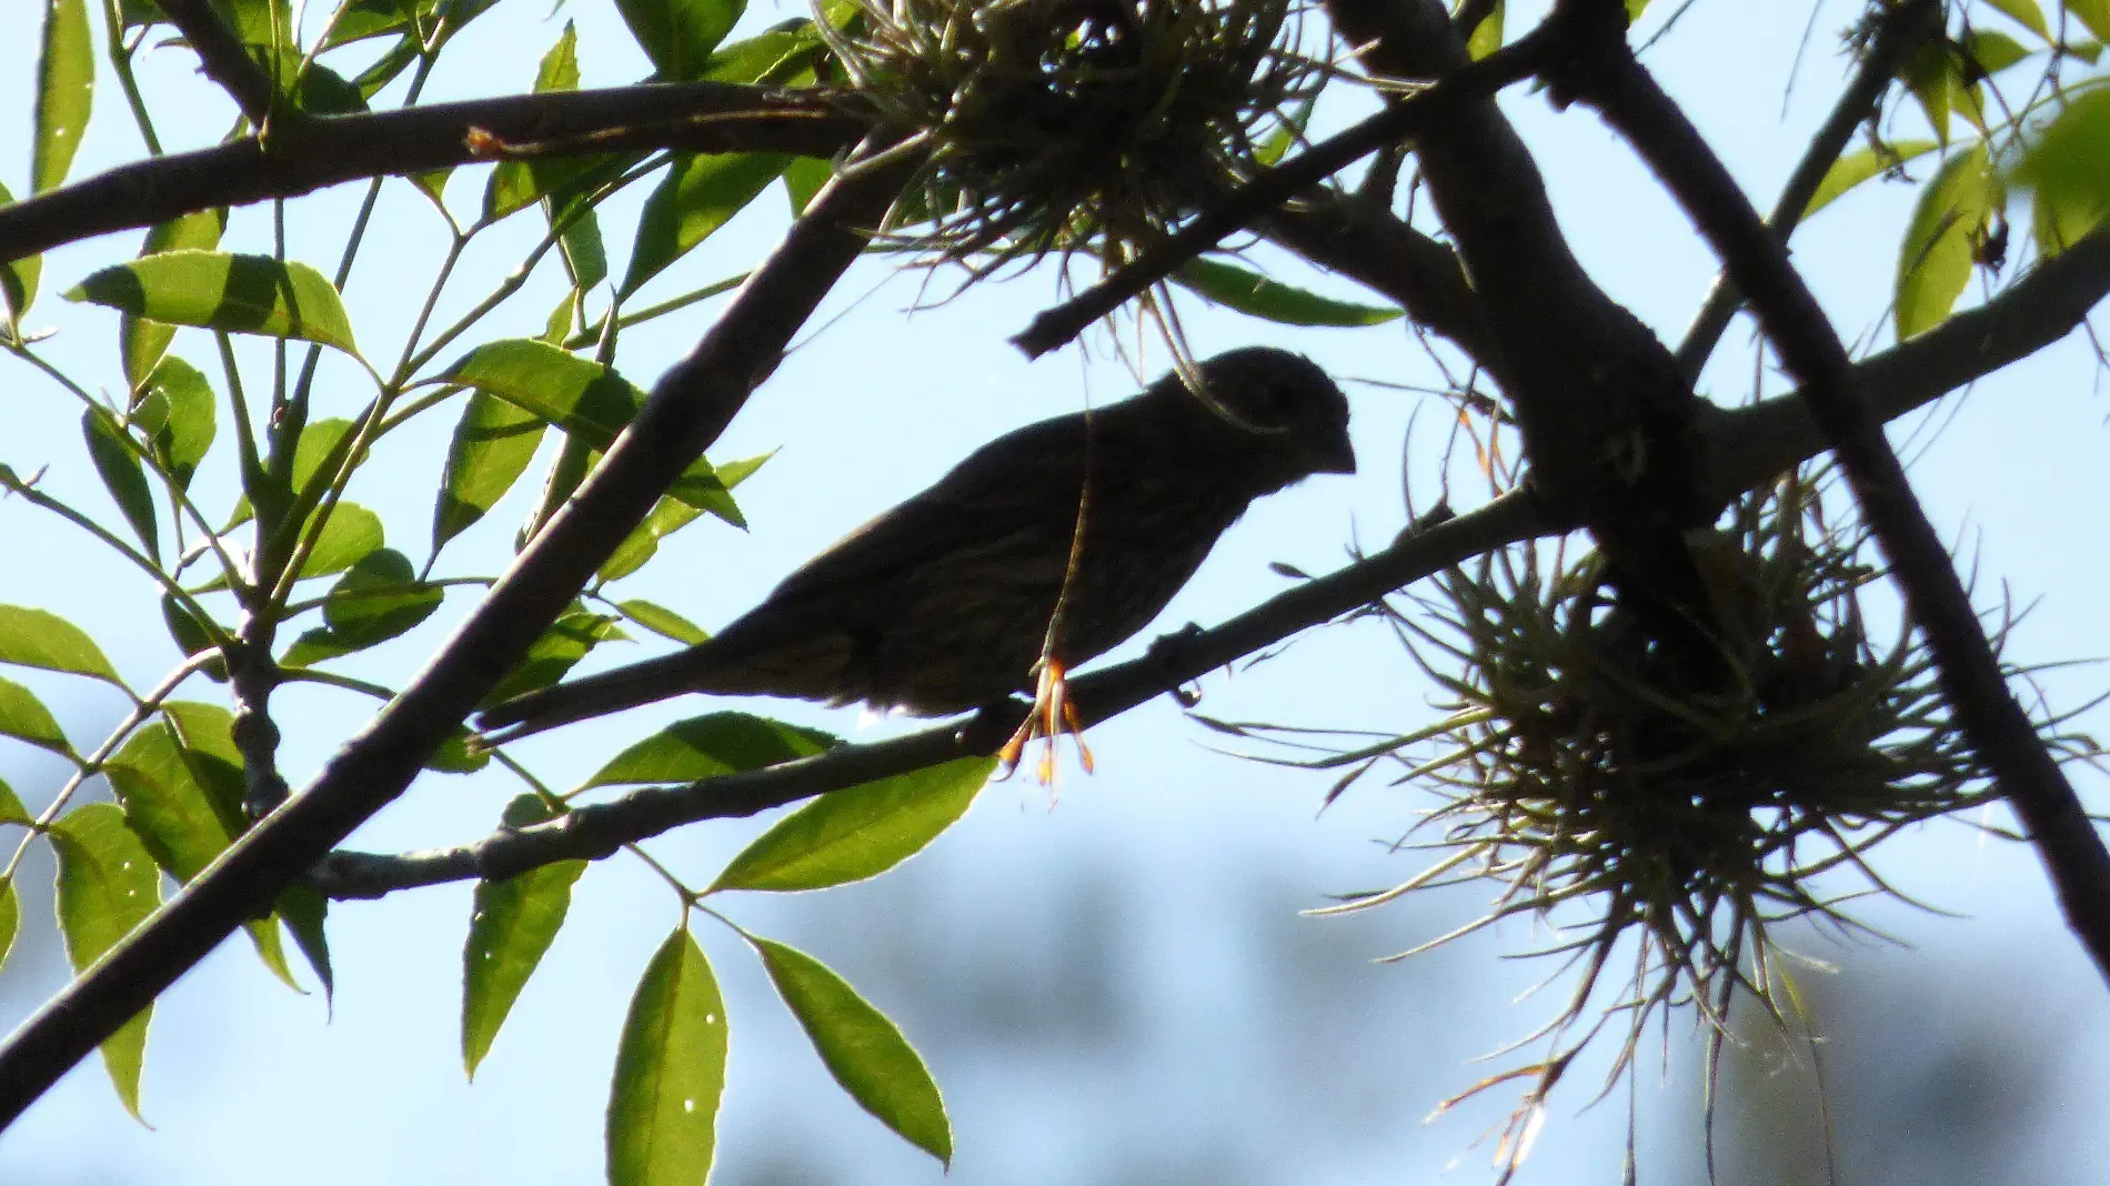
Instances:
[[[1840,152],[1846,152],[1846,141],[1853,139],[1855,129],[1867,122],[1891,80],[1905,68],[1912,51],[1920,49],[1929,36],[1941,32],[1941,4],[1937,0],[1912,0],[1910,4],[1884,8],[1876,21],[1876,36],[1861,57],[1861,70],[1855,72],[1853,82],[1846,84],[1838,103],[1831,106],[1831,116],[1810,137],[1802,160],[1787,175],[1787,186],[1781,188],[1781,198],[1772,205],[1772,217],[1766,219],[1766,226],[1772,228],[1772,234],[1781,243],[1787,243],[1796,234],[1796,226],[1810,209],[1810,198],[1817,196],[1817,186],[1831,173],[1831,165],[1838,162]],[[1686,371],[1686,378],[1699,380],[1701,367],[1707,365],[1707,357],[1722,344],[1722,331],[1728,329],[1741,304],[1743,295],[1730,283],[1728,272],[1715,276],[1713,289],[1701,302],[1701,312],[1686,329],[1686,340],[1677,346],[1677,367]]]

